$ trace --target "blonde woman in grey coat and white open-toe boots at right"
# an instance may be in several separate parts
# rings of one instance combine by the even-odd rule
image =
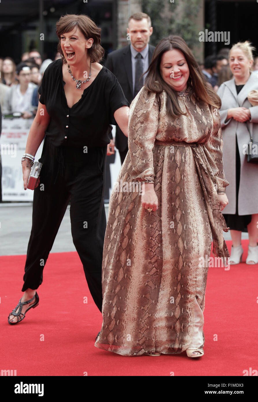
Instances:
[[[224,82],[217,94],[221,98],[221,129],[223,134],[223,165],[229,186],[228,205],[223,211],[231,229],[230,263],[242,260],[241,233],[248,231],[249,245],[246,264],[258,263],[258,164],[247,162],[250,133],[258,142],[258,102],[250,103],[250,91],[258,90],[258,72],[250,69],[252,50],[248,41],[238,42],[229,52],[233,78]],[[256,92],[257,94],[257,92]],[[249,96],[248,96],[249,95]],[[248,131],[249,128],[249,131]]]

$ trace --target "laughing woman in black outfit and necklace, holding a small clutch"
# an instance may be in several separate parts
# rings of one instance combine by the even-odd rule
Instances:
[[[129,103],[117,78],[104,66],[93,64],[94,60],[98,62],[102,58],[104,50],[100,46],[100,29],[88,16],[61,17],[57,23],[57,35],[64,57],[45,70],[39,88],[39,107],[26,146],[26,153],[35,155],[45,135],[39,159],[43,164],[40,184],[33,197],[32,229],[22,288],[25,294],[10,313],[9,324],[23,320],[25,312],[38,304],[35,289],[42,283],[43,268],[69,200],[73,242],[82,261],[90,293],[100,312],[102,308],[106,150],[112,129],[110,123],[115,124],[114,113],[117,123],[127,135]],[[71,58],[68,58],[68,52],[72,52]],[[68,72],[68,65],[76,80],[82,81],[86,81],[85,76],[89,76],[94,69],[90,85],[88,81],[76,84]],[[69,86],[66,86],[65,92],[67,83]],[[82,96],[76,102],[78,93]],[[41,123],[42,115],[48,123],[45,127]],[[26,160],[23,161],[25,189],[30,170],[26,168],[26,163]]]

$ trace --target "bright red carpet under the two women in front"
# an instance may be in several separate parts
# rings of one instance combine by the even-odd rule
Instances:
[[[242,241],[244,261],[248,240]],[[229,251],[231,242],[227,242]],[[86,285],[76,252],[49,255],[39,306],[11,326],[10,311],[18,304],[26,256],[0,257],[0,371],[17,375],[83,376],[242,376],[257,369],[258,265],[210,268],[205,301],[205,355],[186,353],[160,357],[124,357],[94,347],[101,314]],[[84,297],[88,303],[84,303]],[[213,340],[217,334],[217,341]],[[41,340],[44,336],[44,340]]]

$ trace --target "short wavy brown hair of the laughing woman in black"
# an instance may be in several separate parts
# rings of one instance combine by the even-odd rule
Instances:
[[[66,64],[67,62],[61,49],[60,37],[63,33],[72,31],[76,26],[82,31],[85,39],[93,39],[92,47],[87,49],[92,63],[100,62],[105,54],[103,47],[100,45],[101,28],[97,27],[94,21],[92,21],[92,19],[87,15],[66,14],[61,16],[56,23],[56,34],[59,38],[57,51],[61,54],[63,64]]]

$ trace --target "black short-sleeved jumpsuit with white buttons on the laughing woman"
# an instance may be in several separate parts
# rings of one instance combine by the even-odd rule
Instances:
[[[58,59],[45,70],[39,88],[39,102],[51,119],[39,158],[43,166],[40,184],[34,190],[22,291],[41,285],[43,268],[70,200],[73,242],[101,312],[106,148],[110,123],[115,124],[114,112],[129,103],[117,78],[104,66],[72,108],[67,105],[64,85],[62,61]]]

